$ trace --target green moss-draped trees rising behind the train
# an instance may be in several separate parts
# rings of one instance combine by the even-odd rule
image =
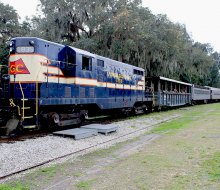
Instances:
[[[82,48],[142,67],[147,76],[220,85],[219,54],[210,44],[194,42],[184,25],[166,15],[153,15],[141,0],[40,0],[39,7],[42,16],[26,18],[18,27],[16,12],[0,4],[0,10],[7,10],[0,15],[12,13],[5,16],[9,36],[14,31],[13,36],[36,36]]]

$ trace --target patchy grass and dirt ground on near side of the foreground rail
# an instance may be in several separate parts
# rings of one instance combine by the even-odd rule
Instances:
[[[177,112],[180,118],[148,134],[35,170],[2,189],[220,189],[220,104]]]

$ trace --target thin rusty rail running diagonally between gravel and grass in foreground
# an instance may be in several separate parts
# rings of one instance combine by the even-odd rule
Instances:
[[[158,122],[158,123],[155,123],[155,124],[153,124],[153,125],[151,125],[151,126],[148,125],[148,126],[146,126],[146,127],[137,129],[137,130],[135,130],[135,131],[133,131],[133,132],[129,132],[129,133],[127,133],[127,134],[120,135],[120,136],[117,136],[117,137],[115,137],[115,138],[113,138],[113,139],[104,141],[104,142],[102,142],[102,143],[98,143],[98,144],[95,144],[95,145],[91,145],[91,146],[89,146],[89,147],[86,147],[86,148],[83,148],[83,149],[80,149],[80,150],[77,150],[77,151],[73,151],[73,152],[71,152],[71,153],[68,153],[68,154],[65,154],[65,155],[62,155],[62,156],[53,158],[53,159],[49,159],[49,160],[47,160],[47,161],[41,162],[41,163],[39,163],[39,164],[36,164],[36,165],[34,165],[34,166],[30,166],[30,167],[21,169],[21,170],[19,170],[19,171],[16,171],[16,172],[13,172],[13,173],[4,175],[4,176],[0,176],[0,181],[1,181],[1,180],[5,180],[5,179],[10,178],[10,177],[13,177],[13,176],[15,176],[15,175],[17,175],[17,174],[20,174],[20,173],[22,173],[22,172],[25,172],[25,171],[28,171],[28,170],[31,170],[31,169],[35,169],[35,168],[40,167],[40,166],[44,166],[44,165],[49,164],[49,163],[52,163],[52,162],[54,162],[54,161],[58,161],[58,160],[60,160],[60,159],[62,159],[62,158],[67,158],[67,157],[73,156],[74,154],[77,154],[77,153],[83,153],[83,152],[85,152],[85,151],[87,151],[87,150],[92,150],[92,149],[95,148],[95,147],[98,147],[98,146],[100,146],[100,145],[105,145],[105,144],[107,144],[107,143],[109,143],[109,142],[114,142],[114,141],[116,141],[116,140],[118,140],[118,139],[120,139],[120,138],[129,136],[129,135],[131,135],[131,134],[135,134],[135,133],[138,133],[138,132],[141,132],[141,131],[145,131],[145,130],[147,130],[147,129],[149,129],[149,128],[154,127],[155,125],[168,122],[168,121],[173,120],[173,119],[176,119],[176,118],[178,118],[178,117],[180,117],[180,116],[175,116],[175,117],[172,117],[172,118],[169,118],[169,119],[165,119],[165,120],[162,120],[162,121],[160,121],[160,122]]]

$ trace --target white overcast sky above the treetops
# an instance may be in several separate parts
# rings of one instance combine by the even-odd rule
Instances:
[[[38,0],[0,0],[17,10],[22,19],[36,14]],[[185,24],[188,33],[201,43],[210,43],[220,52],[219,0],[143,0],[154,14],[166,14],[173,22]]]

